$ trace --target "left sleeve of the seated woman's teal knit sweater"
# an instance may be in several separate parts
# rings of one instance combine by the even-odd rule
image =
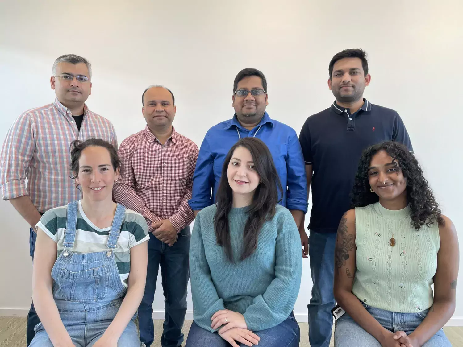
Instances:
[[[214,332],[211,317],[219,310],[224,310],[224,301],[219,298],[207,264],[201,235],[201,212],[194,221],[190,242],[190,276],[191,295],[193,298],[193,319],[201,328]]]

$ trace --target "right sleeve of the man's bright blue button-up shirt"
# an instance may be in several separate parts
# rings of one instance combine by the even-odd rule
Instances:
[[[299,210],[307,213],[306,167],[304,157],[302,156],[302,149],[294,130],[288,140],[286,169],[288,172],[288,198],[286,207],[288,210]]]

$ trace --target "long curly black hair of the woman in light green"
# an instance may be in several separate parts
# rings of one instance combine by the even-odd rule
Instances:
[[[368,168],[373,156],[381,150],[386,151],[397,162],[407,179],[407,201],[410,204],[413,227],[418,230],[421,226],[428,226],[435,221],[443,225],[444,218],[441,217],[439,205],[428,186],[428,181],[423,176],[423,170],[418,161],[406,146],[393,141],[378,143],[363,151],[354,187],[350,193],[352,208],[367,206],[379,201],[379,197],[370,192]]]

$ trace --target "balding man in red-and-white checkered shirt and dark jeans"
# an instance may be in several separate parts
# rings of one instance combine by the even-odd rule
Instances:
[[[188,205],[198,146],[172,127],[174,94],[162,86],[142,95],[144,130],[126,138],[119,147],[122,176],[114,185],[114,199],[141,213],[150,226],[148,275],[138,307],[140,340],[154,341],[153,300],[159,265],[165,300],[163,347],[178,347],[187,311],[189,279],[189,224],[194,214]]]

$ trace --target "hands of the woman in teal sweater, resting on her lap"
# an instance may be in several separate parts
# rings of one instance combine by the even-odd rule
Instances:
[[[213,314],[211,321],[211,328],[214,330],[222,326],[218,331],[220,337],[233,347],[239,347],[236,341],[246,346],[259,344],[260,337],[248,329],[241,313],[219,310]]]

